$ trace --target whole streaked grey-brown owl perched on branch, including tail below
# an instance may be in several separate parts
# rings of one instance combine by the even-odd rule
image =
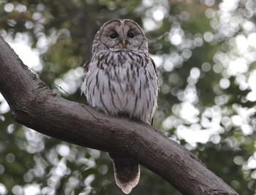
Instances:
[[[91,107],[108,115],[129,115],[151,124],[157,108],[157,69],[148,42],[133,20],[110,20],[94,37],[92,56],[84,66],[81,90]],[[125,153],[110,153],[117,186],[125,194],[140,179],[138,162]]]

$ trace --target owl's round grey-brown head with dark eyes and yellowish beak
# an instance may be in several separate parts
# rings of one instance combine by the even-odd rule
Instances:
[[[133,20],[110,20],[95,35],[93,52],[102,47],[109,50],[148,51],[148,41],[142,29]]]

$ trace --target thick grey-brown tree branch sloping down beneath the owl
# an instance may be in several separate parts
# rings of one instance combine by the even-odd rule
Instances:
[[[61,98],[31,73],[1,37],[0,48],[0,92],[18,123],[76,145],[125,153],[183,194],[237,194],[159,130]]]

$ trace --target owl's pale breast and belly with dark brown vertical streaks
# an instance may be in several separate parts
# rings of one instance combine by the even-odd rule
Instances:
[[[91,61],[82,91],[92,107],[151,122],[157,107],[157,74],[147,55],[139,54],[114,52]]]

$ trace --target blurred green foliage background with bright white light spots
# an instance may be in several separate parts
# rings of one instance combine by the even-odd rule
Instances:
[[[154,126],[195,153],[238,194],[252,195],[255,12],[253,0],[2,0],[0,34],[49,88],[86,104],[80,96],[82,66],[94,34],[107,20],[135,20],[148,37],[161,80]],[[0,194],[122,193],[106,153],[15,123],[0,94]],[[142,167],[131,194],[180,193]]]

